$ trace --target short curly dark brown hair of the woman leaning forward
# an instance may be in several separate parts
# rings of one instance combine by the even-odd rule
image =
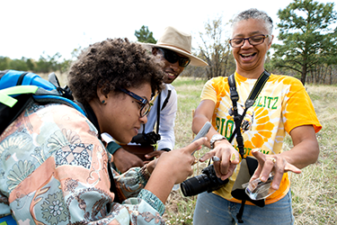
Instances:
[[[89,103],[97,97],[97,88],[102,94],[119,88],[138,87],[150,84],[152,93],[162,89],[164,72],[160,60],[140,44],[128,39],[107,39],[84,49],[67,76],[68,85],[75,99]]]

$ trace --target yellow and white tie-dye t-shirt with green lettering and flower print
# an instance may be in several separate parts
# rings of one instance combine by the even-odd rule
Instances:
[[[240,114],[244,111],[244,102],[256,80],[247,79],[235,72],[236,91],[239,94],[237,106]],[[235,130],[235,122],[229,114],[233,105],[227,77],[218,76],[208,80],[201,93],[201,101],[206,99],[216,103],[211,121],[213,127],[228,139]],[[249,109],[249,114],[253,115],[253,118],[250,120],[251,128],[243,133],[244,156],[253,156],[251,152],[253,148],[261,148],[263,154],[281,153],[286,132],[289,133],[298,126],[313,125],[315,132],[322,128],[305,87],[297,78],[291,76],[271,74],[262,92]],[[232,144],[238,149],[235,139]],[[241,202],[231,195],[239,169],[240,165],[236,166],[234,174],[229,178],[229,183],[215,193],[226,200]],[[266,199],[266,204],[279,201],[288,193],[289,186],[286,173],[283,175],[279,190]],[[251,202],[246,203],[251,204]]]

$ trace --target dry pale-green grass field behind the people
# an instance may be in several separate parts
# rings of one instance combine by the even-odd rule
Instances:
[[[205,80],[179,77],[174,81],[178,93],[178,112],[175,121],[175,148],[182,148],[193,139],[192,112],[200,103],[200,92]],[[317,133],[320,156],[314,165],[307,166],[300,175],[291,175],[295,224],[337,224],[337,88],[336,86],[306,85],[323,129]],[[292,148],[289,137],[284,149]],[[201,148],[200,156],[208,148]],[[195,174],[206,164],[195,165]],[[193,224],[196,197],[184,197],[173,191],[167,202],[164,218],[167,224]]]

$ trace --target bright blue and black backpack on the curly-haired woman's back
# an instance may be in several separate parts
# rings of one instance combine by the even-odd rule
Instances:
[[[85,112],[73,100],[70,89],[59,86],[55,73],[49,74],[47,81],[31,72],[0,71],[0,134],[31,102],[65,103],[85,116]]]

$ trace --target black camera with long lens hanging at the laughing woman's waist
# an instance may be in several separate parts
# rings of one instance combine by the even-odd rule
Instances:
[[[201,171],[201,175],[196,175],[185,180],[181,184],[184,196],[193,196],[203,192],[213,192],[228,183],[228,179],[221,180],[217,177],[213,164]]]

